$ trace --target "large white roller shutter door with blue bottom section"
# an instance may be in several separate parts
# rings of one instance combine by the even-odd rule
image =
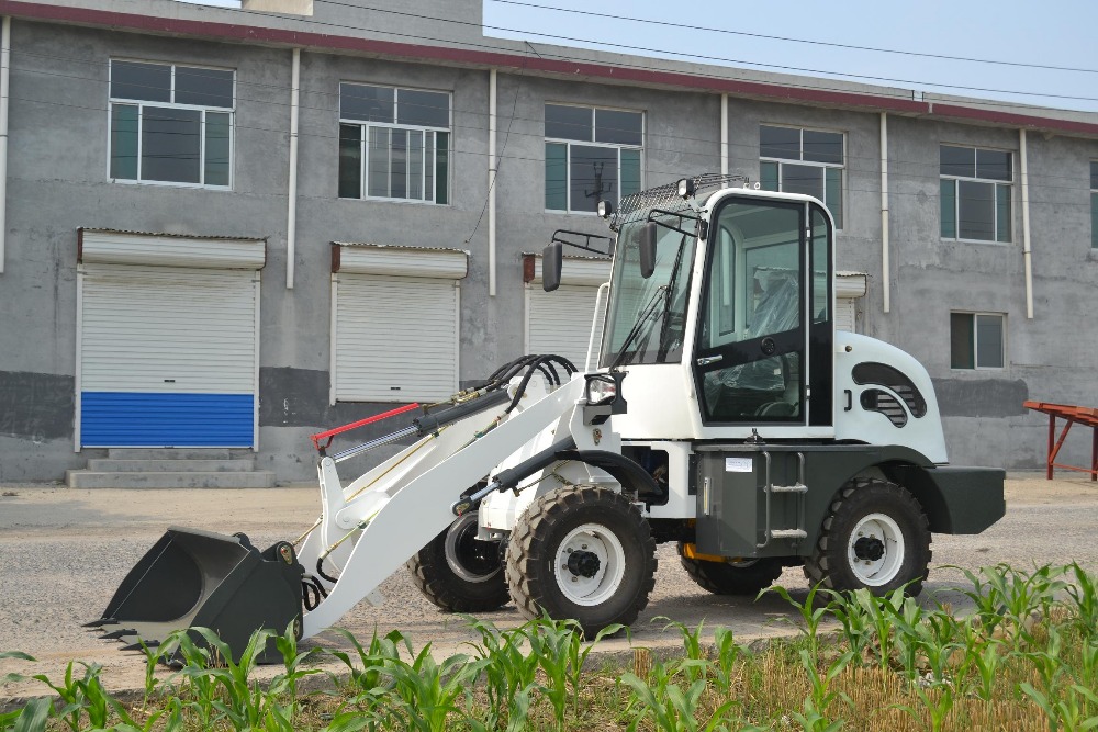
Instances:
[[[255,447],[256,271],[88,264],[82,447]]]

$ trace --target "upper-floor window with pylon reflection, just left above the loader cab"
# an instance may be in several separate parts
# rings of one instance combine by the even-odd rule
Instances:
[[[546,104],[546,211],[589,213],[640,191],[645,114]]]

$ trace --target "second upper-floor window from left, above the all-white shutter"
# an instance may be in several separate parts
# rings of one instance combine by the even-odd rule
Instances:
[[[450,94],[339,85],[339,198],[450,201]]]

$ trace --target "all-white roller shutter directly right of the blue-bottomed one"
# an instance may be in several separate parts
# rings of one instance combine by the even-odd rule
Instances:
[[[425,402],[458,390],[458,283],[340,273],[335,296],[335,398]]]

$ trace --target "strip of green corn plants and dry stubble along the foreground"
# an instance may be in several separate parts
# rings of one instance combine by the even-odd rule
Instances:
[[[1098,730],[1098,584],[1078,564],[968,573],[976,610],[955,618],[896,592],[814,592],[796,603],[802,633],[751,652],[727,628],[669,623],[677,653],[635,647],[629,667],[595,667],[570,621],[501,630],[469,619],[478,640],[445,658],[399,632],[351,651],[299,649],[257,633],[237,663],[210,631],[147,652],[145,689],[109,694],[96,664],[71,663],[49,696],[0,713],[0,730]],[[838,620],[825,634],[820,620]],[[658,619],[666,621],[666,619]],[[256,679],[273,639],[283,663]],[[159,677],[178,650],[182,668]],[[25,654],[0,657],[31,660]],[[343,668],[322,671],[317,665]],[[324,674],[324,684],[306,676]],[[317,690],[322,689],[322,690]]]

